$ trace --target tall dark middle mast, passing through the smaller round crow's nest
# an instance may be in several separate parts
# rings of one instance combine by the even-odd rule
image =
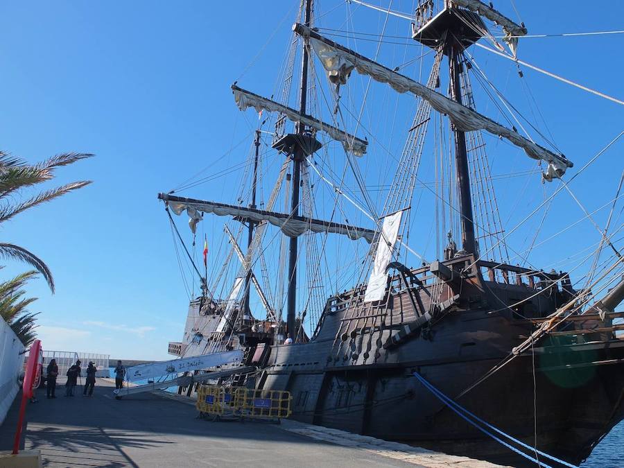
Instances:
[[[312,1],[313,0],[306,0],[304,24],[308,27],[311,26]],[[308,61],[309,57],[307,44],[304,43],[301,59],[301,87],[299,105],[299,110],[301,114],[306,113],[306,104],[308,98]],[[298,123],[297,134],[304,135],[305,132],[306,125],[304,125],[303,123]],[[301,144],[299,144],[296,146],[295,153],[293,154],[293,194],[291,196],[291,214],[293,216],[299,215],[301,162],[304,158],[304,148],[302,148]],[[293,340],[297,338],[295,336],[295,313],[297,309],[297,240],[297,237],[291,237],[288,250],[288,312],[286,315],[286,327],[288,333],[291,334],[291,338],[293,338]]]

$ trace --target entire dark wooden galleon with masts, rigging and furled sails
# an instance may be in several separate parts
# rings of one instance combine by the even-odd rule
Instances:
[[[374,46],[365,55],[339,42],[353,42],[352,26],[352,35],[321,27],[333,10],[297,6],[273,94],[256,92],[249,76],[232,85],[255,128],[231,198],[159,194],[200,284],[170,354],[244,349],[254,370],[229,383],[288,390],[302,422],[527,462],[460,417],[455,402],[544,466],[579,464],[624,417],[621,184],[605,226],[585,212],[598,243],[569,245],[578,259],[571,271],[529,256],[549,239],[538,232],[557,193],[573,193],[587,165],[572,169],[573,158],[474,58],[476,46],[505,55],[522,78],[517,48],[527,27],[477,0],[420,0],[409,14],[352,0],[347,8],[402,17],[409,35],[392,35],[384,21],[360,30]],[[384,64],[382,42],[413,56]],[[496,119],[477,110],[479,95]],[[386,121],[401,113],[409,120]],[[545,193],[515,226],[499,209],[492,150],[526,164],[523,176]],[[192,246],[176,225],[184,214]],[[514,247],[528,219],[538,221],[528,246]],[[559,220],[566,227],[576,218]],[[199,232],[206,223],[209,252]]]

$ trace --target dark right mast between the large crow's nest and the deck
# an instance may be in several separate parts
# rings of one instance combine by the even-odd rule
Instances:
[[[461,92],[461,64],[459,61],[462,45],[454,38],[447,40],[447,53],[449,55],[449,77],[453,99],[462,103]],[[468,154],[466,150],[465,132],[453,128],[455,135],[455,167],[460,199],[460,214],[462,225],[462,249],[469,254],[476,253],[474,241],[474,223],[472,215],[472,196],[470,193],[470,175],[468,169]]]

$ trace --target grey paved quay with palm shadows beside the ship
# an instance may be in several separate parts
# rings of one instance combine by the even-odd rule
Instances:
[[[98,379],[93,397],[68,398],[61,385],[53,400],[37,390],[22,448],[39,449],[45,467],[495,466],[292,421],[208,422],[186,397],[153,392],[118,401],[113,387]],[[0,449],[10,449],[18,406],[16,399],[0,427]]]

